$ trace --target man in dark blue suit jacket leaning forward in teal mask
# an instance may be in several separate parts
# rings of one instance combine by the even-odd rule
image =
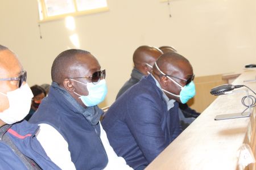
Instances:
[[[187,103],[195,95],[193,77],[186,58],[162,54],[152,74],[109,108],[102,126],[118,156],[134,169],[144,169],[181,133],[177,102]]]

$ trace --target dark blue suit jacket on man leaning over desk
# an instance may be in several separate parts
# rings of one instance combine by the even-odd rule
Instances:
[[[178,104],[167,111],[151,75],[127,90],[102,121],[110,145],[134,169],[146,167],[180,133]]]

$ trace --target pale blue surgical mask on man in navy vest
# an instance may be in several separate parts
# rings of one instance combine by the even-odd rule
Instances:
[[[75,79],[72,79],[72,80],[74,80],[75,82],[79,82]],[[100,82],[98,82],[97,84],[93,84],[93,83],[85,84],[82,82],[79,82],[79,83],[87,86],[87,90],[89,94],[87,96],[82,96],[77,94],[76,92],[74,93],[80,96],[79,99],[82,100],[82,103],[84,103],[86,107],[92,107],[94,105],[98,105],[105,99],[106,94],[108,92],[105,79],[100,80]]]

